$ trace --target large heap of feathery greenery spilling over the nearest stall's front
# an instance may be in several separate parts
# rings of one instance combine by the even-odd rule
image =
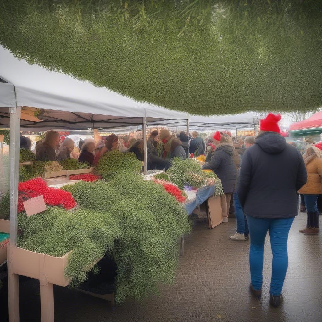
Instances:
[[[122,172],[109,182],[80,181],[63,189],[81,209],[19,214],[19,247],[53,256],[73,250],[66,270],[72,286],[82,283],[89,265],[108,253],[118,267],[119,303],[157,294],[160,283],[173,281],[178,238],[190,225],[183,206],[162,185]]]

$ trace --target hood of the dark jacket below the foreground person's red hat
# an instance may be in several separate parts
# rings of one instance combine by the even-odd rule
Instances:
[[[255,144],[270,154],[281,153],[287,145],[285,138],[276,132],[260,133],[255,139]]]

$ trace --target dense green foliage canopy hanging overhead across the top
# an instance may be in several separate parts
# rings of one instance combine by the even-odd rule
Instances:
[[[18,58],[193,114],[322,105],[320,0],[0,0]]]

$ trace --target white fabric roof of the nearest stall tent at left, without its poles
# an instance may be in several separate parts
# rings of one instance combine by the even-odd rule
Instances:
[[[141,125],[143,117],[146,117],[147,123],[157,121],[161,124],[166,124],[168,120],[186,123],[189,119],[187,113],[139,103],[90,82],[48,71],[36,64],[30,65],[25,60],[16,59],[2,46],[0,58],[0,78],[7,82],[0,83],[0,107],[30,106],[55,110],[51,119],[54,123],[59,120],[59,128],[84,129],[93,127],[93,124],[99,128],[100,121],[109,124],[106,128]],[[63,114],[58,111],[63,111]],[[75,113],[79,116],[76,117]],[[46,126],[52,128],[54,124],[50,124],[50,117],[45,121]],[[5,125],[4,120],[1,124]],[[22,128],[39,127],[24,120],[21,125]]]

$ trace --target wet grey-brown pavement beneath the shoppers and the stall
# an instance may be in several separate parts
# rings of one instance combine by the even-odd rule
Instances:
[[[229,240],[236,225],[232,218],[212,230],[200,223],[194,227],[186,238],[175,284],[161,286],[160,297],[142,304],[128,302],[112,311],[104,300],[56,287],[55,321],[322,321],[322,233],[299,233],[305,223],[306,213],[299,213],[291,228],[285,302],[280,308],[268,304],[272,257],[269,239],[265,246],[263,296],[254,301],[248,292],[249,242]],[[322,216],[320,223],[322,227]],[[40,297],[37,288],[30,290],[30,283],[21,285],[21,321],[40,321]],[[3,313],[5,310],[0,318],[5,316]]]

